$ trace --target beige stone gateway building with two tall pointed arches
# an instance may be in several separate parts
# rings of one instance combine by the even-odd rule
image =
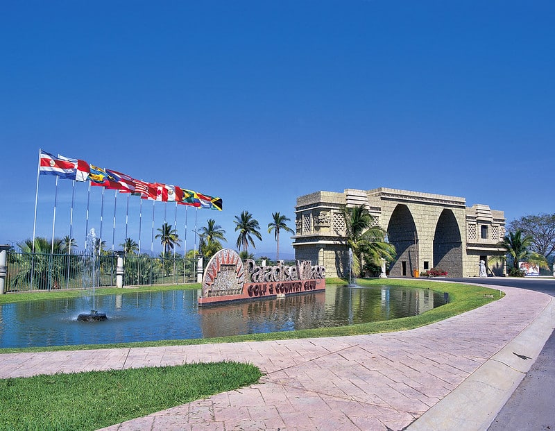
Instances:
[[[323,265],[327,276],[348,273],[342,205],[365,205],[387,231],[397,250],[392,276],[436,268],[450,277],[473,277],[479,275],[480,260],[487,266],[489,257],[504,254],[495,246],[505,234],[504,213],[488,205],[467,207],[466,199],[457,196],[384,187],[316,192],[297,198],[293,248],[296,259]],[[501,276],[504,266],[488,267],[488,273]]]

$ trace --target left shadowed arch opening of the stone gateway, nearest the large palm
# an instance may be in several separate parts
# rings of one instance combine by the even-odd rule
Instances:
[[[413,271],[418,269],[416,248],[418,233],[407,205],[398,204],[391,213],[387,237],[397,251],[397,260],[391,265],[389,273],[391,276],[412,276]]]

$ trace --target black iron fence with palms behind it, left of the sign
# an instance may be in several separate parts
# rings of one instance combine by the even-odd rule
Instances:
[[[6,293],[79,289],[116,285],[117,255],[8,253]],[[196,260],[176,255],[123,258],[123,285],[168,285],[196,282]]]

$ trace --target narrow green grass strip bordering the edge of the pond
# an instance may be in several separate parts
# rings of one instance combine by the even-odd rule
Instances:
[[[344,280],[339,278],[327,279],[328,284],[343,284]],[[185,346],[191,344],[213,344],[213,343],[235,343],[244,341],[266,341],[278,339],[295,339],[295,338],[316,338],[316,337],[338,337],[342,335],[364,335],[375,334],[379,332],[393,332],[399,330],[408,330],[418,328],[419,326],[429,325],[437,321],[447,319],[456,314],[461,314],[477,307],[481,307],[486,303],[495,301],[502,297],[502,292],[497,289],[488,287],[480,287],[476,285],[463,285],[454,282],[443,282],[434,280],[415,280],[406,278],[373,278],[373,279],[357,279],[357,284],[361,286],[382,286],[397,285],[403,287],[413,287],[420,289],[430,289],[447,293],[450,302],[441,307],[434,308],[418,316],[404,317],[391,321],[379,321],[370,323],[361,323],[351,326],[340,326],[336,328],[316,328],[308,330],[297,330],[289,332],[270,332],[266,334],[248,334],[235,335],[232,337],[216,337],[206,339],[178,339],[178,340],[162,340],[162,341],[142,341],[137,343],[119,343],[119,344],[87,344],[73,346],[51,346],[37,348],[3,348],[0,353],[16,353],[16,352],[45,352],[56,350],[91,350],[99,348],[133,348],[133,347],[157,347],[157,346]],[[123,289],[125,291],[155,291],[155,290],[175,290],[175,289],[198,289],[200,285],[170,285],[170,286],[148,286],[135,289]],[[122,289],[98,289],[97,294],[121,294]],[[78,291],[50,291],[50,292],[32,292],[28,294],[8,294],[0,296],[1,302],[7,301],[6,296],[32,296],[36,299],[44,298],[65,298],[69,296],[80,296],[82,290]],[[66,296],[64,296],[66,295]],[[18,298],[19,300],[19,298]]]

